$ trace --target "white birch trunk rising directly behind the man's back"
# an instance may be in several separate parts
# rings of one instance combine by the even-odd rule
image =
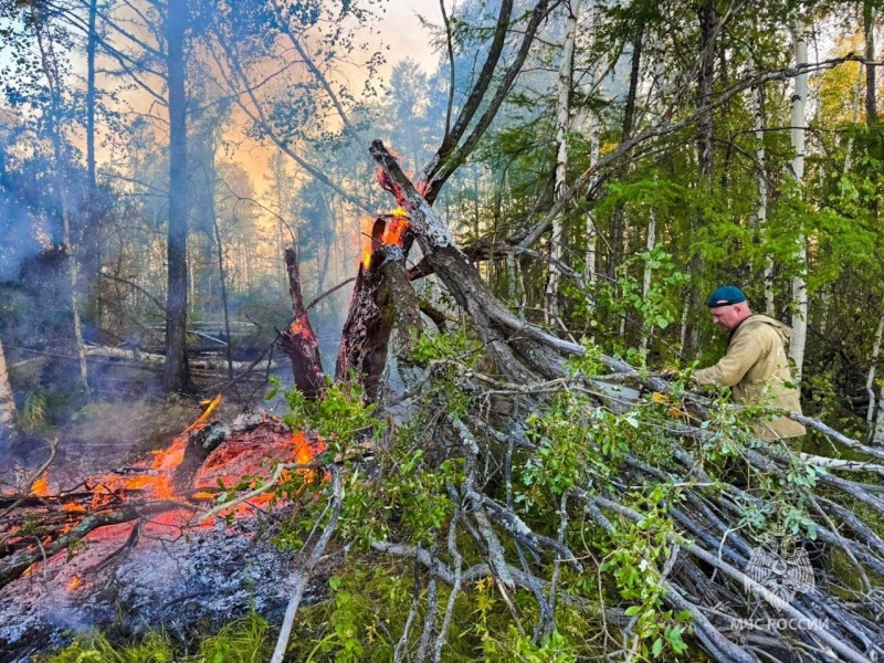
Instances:
[[[807,65],[808,44],[803,32],[803,25],[798,20],[796,20],[793,27],[792,39],[794,41],[796,66],[800,67]],[[794,148],[791,170],[798,191],[801,190],[804,179],[804,107],[807,98],[808,74],[804,71],[796,76],[791,107],[791,138],[792,147]],[[804,281],[808,265],[808,246],[807,236],[804,236],[803,233],[798,238],[796,259],[798,261],[798,274],[792,278],[792,338],[789,344],[789,357],[794,361],[796,380],[800,380],[808,336],[808,290],[807,282]]]

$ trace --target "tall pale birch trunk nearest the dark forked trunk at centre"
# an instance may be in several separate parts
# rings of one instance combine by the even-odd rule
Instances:
[[[568,133],[571,128],[571,87],[573,85],[573,46],[577,38],[577,17],[580,13],[580,0],[568,3],[568,32],[561,46],[561,64],[559,65],[558,101],[556,103],[556,185],[555,201],[562,199],[568,190]],[[549,280],[545,293],[545,315],[557,318],[559,315],[559,267],[562,259],[561,250],[562,219],[561,214],[552,221],[552,234],[549,238]]]

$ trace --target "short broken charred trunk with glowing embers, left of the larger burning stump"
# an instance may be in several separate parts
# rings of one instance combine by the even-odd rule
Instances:
[[[325,373],[319,357],[319,341],[311,326],[301,293],[301,273],[294,249],[285,250],[285,270],[288,273],[293,319],[288,328],[280,334],[278,343],[292,360],[295,385],[306,398],[315,400],[325,388]]]

